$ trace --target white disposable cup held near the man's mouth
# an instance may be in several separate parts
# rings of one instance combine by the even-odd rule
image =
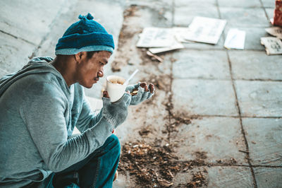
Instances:
[[[107,76],[106,77],[106,90],[108,91],[111,102],[118,101],[125,93],[126,85],[123,85],[125,78],[121,76]]]

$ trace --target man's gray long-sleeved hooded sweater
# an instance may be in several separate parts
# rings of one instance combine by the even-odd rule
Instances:
[[[92,113],[82,86],[68,88],[49,61],[32,59],[0,80],[0,187],[42,181],[78,163],[114,128],[102,111]],[[75,126],[82,134],[70,139]]]

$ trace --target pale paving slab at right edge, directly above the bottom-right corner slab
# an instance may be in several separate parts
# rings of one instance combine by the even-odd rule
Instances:
[[[282,167],[282,119],[243,118],[252,165]]]

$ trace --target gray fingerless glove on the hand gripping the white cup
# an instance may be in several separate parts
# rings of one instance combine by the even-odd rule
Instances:
[[[102,117],[116,129],[116,127],[122,124],[128,116],[128,105],[130,105],[131,95],[129,93],[124,93],[120,100],[113,103],[109,98],[102,98],[102,100]]]

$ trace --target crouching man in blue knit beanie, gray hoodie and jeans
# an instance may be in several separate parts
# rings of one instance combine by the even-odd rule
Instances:
[[[104,92],[93,114],[82,86],[104,76],[114,40],[90,13],[79,18],[59,39],[55,59],[32,59],[0,80],[0,187],[112,186],[121,150],[112,132],[154,86],[128,86],[137,95],[114,103]],[[71,137],[74,127],[82,134]]]

